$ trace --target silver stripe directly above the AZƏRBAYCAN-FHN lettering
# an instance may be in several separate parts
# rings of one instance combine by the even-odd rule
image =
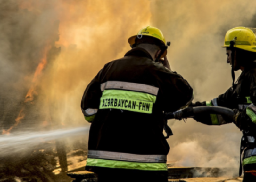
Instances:
[[[145,93],[150,93],[157,95],[159,88],[145,85],[145,84],[136,84],[129,82],[118,82],[118,81],[108,81],[101,84],[101,91],[105,89],[121,89],[121,90],[130,90],[130,91],[141,91]]]

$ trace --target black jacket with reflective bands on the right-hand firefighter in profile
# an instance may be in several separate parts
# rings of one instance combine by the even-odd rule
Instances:
[[[256,62],[242,71],[235,87],[230,87],[226,93],[214,98],[211,102],[196,102],[193,106],[222,106],[237,109],[234,120],[216,114],[202,114],[195,120],[207,125],[222,125],[234,123],[243,132],[241,154],[244,151],[242,166],[245,172],[256,171]]]

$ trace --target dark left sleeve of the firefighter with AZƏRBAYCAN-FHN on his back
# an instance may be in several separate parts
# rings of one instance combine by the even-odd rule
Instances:
[[[84,114],[85,119],[88,122],[92,122],[95,115],[99,109],[100,98],[102,96],[100,77],[102,70],[95,76],[95,78],[87,85],[84,92],[81,109]]]

